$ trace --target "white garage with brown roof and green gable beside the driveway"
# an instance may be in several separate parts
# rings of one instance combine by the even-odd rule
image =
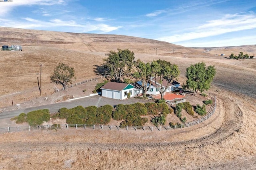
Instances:
[[[137,96],[140,93],[140,89],[136,88],[132,84],[108,82],[101,87],[101,95],[106,98],[124,100],[130,97]]]

